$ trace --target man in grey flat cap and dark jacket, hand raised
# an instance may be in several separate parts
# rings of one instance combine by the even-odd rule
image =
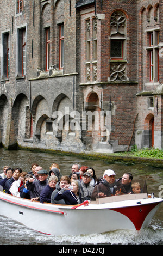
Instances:
[[[34,180],[33,178],[30,178],[27,182],[26,182],[26,186],[27,189],[30,191],[30,197],[31,200],[40,200],[40,193],[43,190],[43,188],[46,187],[46,185],[48,184],[47,182],[47,176],[48,176],[48,172],[47,170],[39,170],[39,172],[37,172],[39,174],[39,179],[38,180]]]

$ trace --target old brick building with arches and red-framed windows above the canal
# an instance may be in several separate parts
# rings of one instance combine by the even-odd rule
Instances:
[[[162,10],[156,0],[3,1],[1,144],[161,149]]]

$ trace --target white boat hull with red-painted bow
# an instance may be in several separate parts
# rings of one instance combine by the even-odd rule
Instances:
[[[72,209],[73,205],[42,204],[0,192],[0,214],[41,233],[79,235],[148,227],[163,202],[160,198],[114,198],[116,202],[74,205]]]

